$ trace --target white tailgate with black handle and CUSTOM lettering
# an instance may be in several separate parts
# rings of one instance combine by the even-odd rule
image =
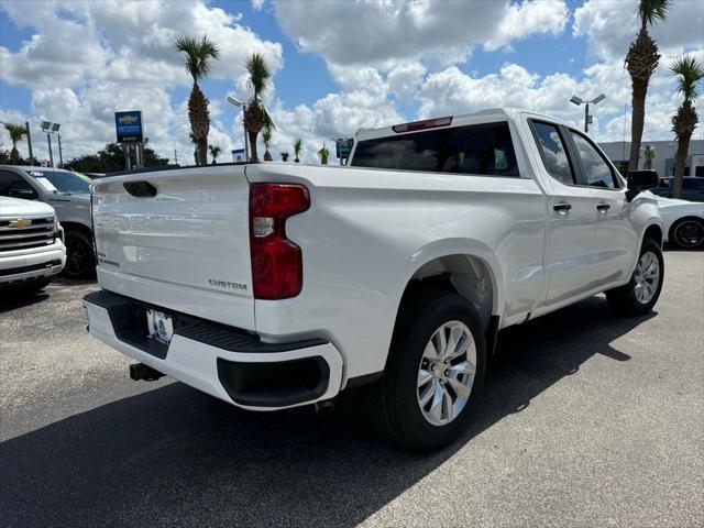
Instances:
[[[244,167],[176,168],[98,182],[92,208],[100,285],[254,330]]]

